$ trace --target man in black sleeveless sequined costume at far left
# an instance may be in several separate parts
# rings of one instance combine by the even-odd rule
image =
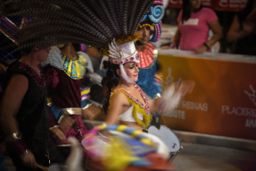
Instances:
[[[48,167],[51,162],[63,163],[57,147],[48,137],[47,91],[40,67],[50,48],[42,44],[42,41],[47,42],[45,38],[30,41],[34,44],[22,48],[22,57],[7,70],[0,106],[1,129],[8,154],[16,170],[28,171],[35,170],[36,164]]]

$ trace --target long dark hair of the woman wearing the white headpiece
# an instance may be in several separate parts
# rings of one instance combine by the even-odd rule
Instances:
[[[118,86],[120,77],[116,72],[119,69],[119,65],[113,64],[109,61],[103,62],[103,65],[104,65],[104,68],[107,68],[106,76],[103,77],[103,80],[101,81],[101,85],[103,86],[103,89],[107,88],[107,92],[106,94],[104,94],[106,96],[106,103],[103,104],[103,111],[106,114],[109,108],[109,98],[112,92],[112,88],[115,88],[116,86]]]

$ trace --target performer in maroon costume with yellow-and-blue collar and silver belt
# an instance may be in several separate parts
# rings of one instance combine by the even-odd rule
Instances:
[[[86,134],[86,126],[82,117],[92,120],[93,112],[89,110],[89,79],[86,70],[93,72],[89,57],[80,51],[79,44],[65,43],[51,47],[48,60],[43,62],[48,97],[51,98],[49,107],[50,129],[54,132],[64,132],[62,141],[75,137],[82,141]],[[90,65],[89,65],[90,64]]]

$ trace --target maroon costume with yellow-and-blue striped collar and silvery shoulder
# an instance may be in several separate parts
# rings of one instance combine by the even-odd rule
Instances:
[[[55,55],[51,54],[52,51],[55,51]],[[55,49],[52,48],[48,55],[48,61],[43,65],[50,64],[45,67],[46,83],[52,103],[49,112],[50,126],[59,124],[58,121],[63,116],[63,109],[78,109],[80,113],[70,115],[76,120],[76,123],[65,133],[65,136],[66,138],[76,137],[81,141],[86,133],[86,127],[81,117],[81,107],[88,103],[90,88],[83,86],[86,80],[86,54],[80,52],[77,56],[77,60],[69,59],[60,54],[60,50],[58,51],[58,48],[55,47]]]

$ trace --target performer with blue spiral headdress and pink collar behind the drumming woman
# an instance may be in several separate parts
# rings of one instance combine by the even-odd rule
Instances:
[[[140,74],[136,83],[151,99],[159,97],[161,94],[162,77],[159,72],[158,51],[150,42],[157,42],[160,39],[160,23],[163,16],[163,1],[154,1],[136,32],[140,36],[135,42],[135,48],[140,57],[138,64]],[[150,38],[151,28],[153,28],[153,35]]]

